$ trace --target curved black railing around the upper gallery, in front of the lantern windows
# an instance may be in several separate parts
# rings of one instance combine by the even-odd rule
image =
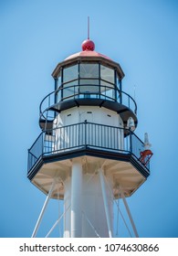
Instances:
[[[77,100],[82,98],[101,99],[108,101],[116,101],[127,106],[135,114],[137,113],[137,104],[133,98],[126,92],[120,91],[117,87],[109,87],[104,85],[70,85],[60,87],[57,91],[52,91],[41,101],[39,106],[40,118],[44,120],[54,119],[55,114],[48,117],[48,111],[56,103],[68,100]]]

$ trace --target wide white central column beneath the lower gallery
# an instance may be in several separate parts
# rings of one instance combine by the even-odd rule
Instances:
[[[64,194],[64,237],[109,237],[106,210],[99,178],[99,162],[90,157],[89,162],[85,157],[73,159],[71,176],[65,182]],[[96,171],[95,171],[96,169]],[[111,178],[108,183],[112,187]],[[106,187],[105,187],[106,188]],[[110,223],[113,218],[112,195],[106,189],[105,197],[108,202]],[[110,224],[112,232],[112,224]]]

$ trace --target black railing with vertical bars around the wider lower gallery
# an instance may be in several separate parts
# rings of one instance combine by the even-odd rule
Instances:
[[[124,130],[129,136],[124,137]],[[138,160],[144,144],[135,133],[98,123],[75,123],[43,131],[28,150],[28,172],[43,155],[54,155],[82,147],[121,154],[132,154]],[[149,165],[146,166],[149,169]]]

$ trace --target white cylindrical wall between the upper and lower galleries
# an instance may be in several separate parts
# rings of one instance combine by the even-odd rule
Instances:
[[[123,122],[119,114],[96,106],[80,106],[61,112],[58,115],[57,120],[55,120],[54,127],[61,127],[60,130],[57,130],[56,132],[56,139],[54,144],[55,150],[58,151],[58,149],[64,147],[64,145],[68,147],[82,144],[82,138],[84,137],[84,134],[82,134],[82,132],[84,133],[84,126],[82,126],[82,124],[72,127],[72,133],[69,133],[69,131],[71,131],[69,130],[69,127],[65,128],[63,126],[85,122],[96,124],[93,130],[89,129],[87,132],[88,144],[91,144],[94,139],[97,146],[101,146],[101,143],[106,141],[107,147],[109,148],[113,145],[118,149],[124,148],[122,129],[113,129],[112,131],[110,130],[106,137],[104,132],[102,134],[100,133],[100,127],[97,126],[97,124],[103,124],[123,128]],[[102,129],[104,131],[105,128],[103,127]],[[98,141],[96,141],[96,138]]]

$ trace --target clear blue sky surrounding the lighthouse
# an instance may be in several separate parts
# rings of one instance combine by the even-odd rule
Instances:
[[[38,106],[53,91],[58,62],[87,37],[120,63],[123,90],[138,104],[136,134],[149,133],[151,176],[128,199],[141,237],[178,237],[178,2],[0,1],[0,237],[30,237],[45,195],[26,178]],[[45,219],[52,223],[51,202]],[[44,220],[45,220],[44,219]],[[47,229],[41,227],[39,236]],[[127,236],[123,233],[124,236]]]

